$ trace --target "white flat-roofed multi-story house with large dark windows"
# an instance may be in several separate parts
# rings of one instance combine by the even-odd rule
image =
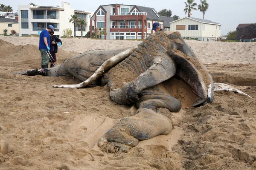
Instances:
[[[70,23],[71,15],[77,14],[79,19],[86,20],[87,26],[82,28],[83,35],[90,28],[90,12],[77,11],[70,8],[70,3],[61,2],[61,7],[56,6],[35,6],[35,5],[19,5],[19,36],[22,35],[38,35],[40,31],[48,25],[54,27],[54,34],[57,37],[64,35],[64,30],[72,29],[74,35],[74,25]],[[76,26],[76,36],[81,36],[81,28]]]

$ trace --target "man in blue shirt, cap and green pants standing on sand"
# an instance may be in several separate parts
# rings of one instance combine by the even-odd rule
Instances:
[[[54,28],[52,25],[47,26],[41,33],[39,38],[39,51],[41,52],[41,67],[42,68],[48,68],[49,63],[49,56],[47,55],[47,51],[50,50],[50,34],[49,31],[54,31]]]

